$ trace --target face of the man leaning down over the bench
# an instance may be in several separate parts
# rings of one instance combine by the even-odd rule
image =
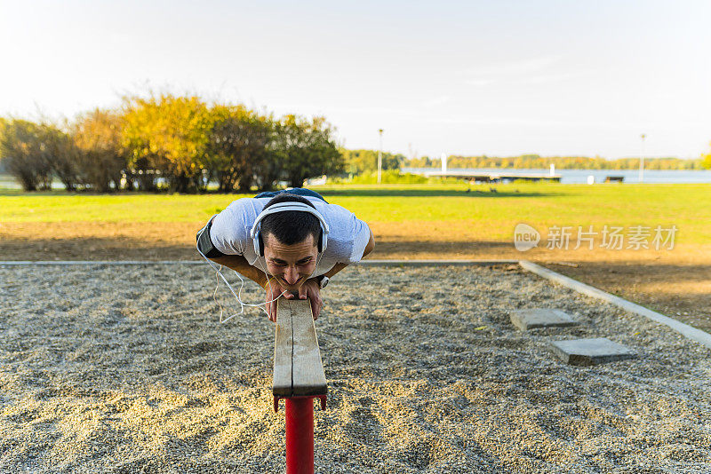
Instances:
[[[276,240],[274,234],[268,233],[264,242],[267,271],[284,289],[295,291],[301,288],[316,270],[316,257],[318,249],[311,234],[304,241],[284,245]]]

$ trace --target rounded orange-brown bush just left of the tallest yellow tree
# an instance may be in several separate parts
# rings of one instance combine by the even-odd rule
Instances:
[[[77,169],[84,184],[100,193],[121,186],[127,168],[124,147],[121,146],[123,119],[116,112],[99,108],[76,121],[73,137],[79,149]],[[127,179],[126,185],[128,186]]]

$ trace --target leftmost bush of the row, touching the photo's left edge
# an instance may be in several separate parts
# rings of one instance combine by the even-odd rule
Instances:
[[[42,126],[25,120],[6,122],[0,137],[0,155],[8,173],[25,191],[52,188],[52,166],[42,141]]]

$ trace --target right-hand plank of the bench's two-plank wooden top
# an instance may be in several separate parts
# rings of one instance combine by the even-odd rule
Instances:
[[[311,302],[292,300],[292,381],[294,395],[325,395],[326,376],[316,338]]]

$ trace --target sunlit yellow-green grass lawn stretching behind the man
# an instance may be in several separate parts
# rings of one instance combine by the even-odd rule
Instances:
[[[676,225],[677,242],[711,242],[711,185],[316,186],[368,222],[469,221],[509,240],[515,224]],[[467,193],[467,189],[471,192]],[[202,222],[253,194],[67,194],[0,190],[2,222]],[[599,228],[597,228],[599,227]]]

